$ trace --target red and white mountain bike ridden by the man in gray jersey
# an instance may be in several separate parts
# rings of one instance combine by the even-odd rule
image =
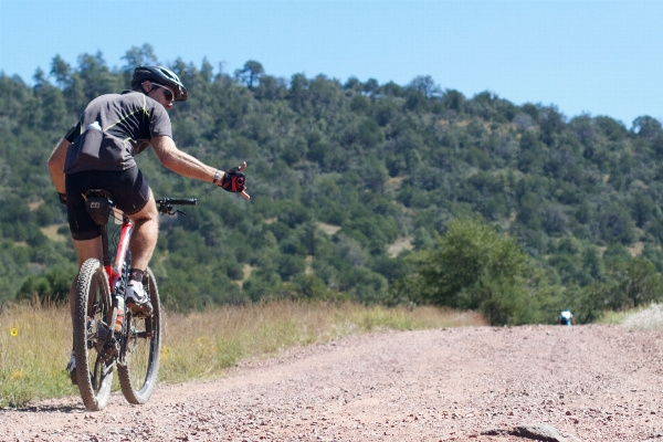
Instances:
[[[156,202],[160,213],[173,215],[185,214],[175,206],[194,206],[197,200],[165,198]],[[130,403],[143,404],[149,400],[159,372],[162,324],[157,282],[147,267],[143,285],[152,305],[150,316],[131,314],[125,308],[129,239],[134,223],[115,209],[113,196],[105,190],[88,190],[85,208],[102,228],[103,262],[86,260],[76,283],[74,351],[78,390],[87,410],[104,409],[110,397],[113,371],[117,367],[124,397]],[[122,221],[113,262],[106,225],[112,213],[116,222]]]

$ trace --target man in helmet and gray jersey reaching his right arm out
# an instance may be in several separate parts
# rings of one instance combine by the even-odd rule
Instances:
[[[185,101],[187,88],[172,71],[162,66],[138,66],[134,70],[131,91],[102,95],[90,102],[81,119],[49,158],[51,179],[60,201],[66,204],[78,269],[87,259],[102,260],[101,228],[85,210],[83,193],[86,190],[110,192],[115,206],[135,223],[129,242],[131,269],[125,303],[136,314],[150,315],[152,309],[143,287],[143,275],[157,243],[158,212],[134,156],[151,145],[168,169],[249,198],[242,172],[246,162],[223,171],[176,147],[167,110],[172,109],[175,102]],[[70,293],[72,318],[75,285],[76,280]],[[74,366],[72,352],[70,372]]]

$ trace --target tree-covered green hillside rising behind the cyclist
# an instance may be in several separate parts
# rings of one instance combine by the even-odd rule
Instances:
[[[0,299],[66,291],[75,255],[46,158],[90,99],[158,62],[147,44],[125,60],[109,69],[101,53],[77,66],[55,56],[33,86],[0,73]],[[232,74],[207,61],[170,67],[189,90],[170,113],[178,147],[219,168],[246,160],[253,197],[173,175],[149,149],[137,157],[157,197],[199,199],[186,218],[161,220],[150,266],[170,305],[422,302],[408,285],[422,253],[442,253],[450,222],[476,215],[535,264],[530,320],[554,322],[561,306],[591,320],[661,297],[654,118],[569,118],[490,92],[465,97],[429,76],[403,86],[277,78],[254,61]]]

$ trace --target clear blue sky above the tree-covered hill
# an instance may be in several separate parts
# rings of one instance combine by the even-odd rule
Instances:
[[[0,0],[0,71],[32,82],[60,54],[122,66],[149,43],[160,62],[248,60],[290,78],[407,84],[431,75],[471,97],[555,104],[631,127],[663,119],[663,1]]]

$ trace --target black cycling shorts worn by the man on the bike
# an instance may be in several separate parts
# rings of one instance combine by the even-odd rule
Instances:
[[[103,189],[113,196],[115,207],[126,214],[139,212],[149,200],[149,186],[138,167],[127,170],[87,170],[65,176],[66,214],[74,240],[92,240],[102,234],[85,210],[83,193]]]

